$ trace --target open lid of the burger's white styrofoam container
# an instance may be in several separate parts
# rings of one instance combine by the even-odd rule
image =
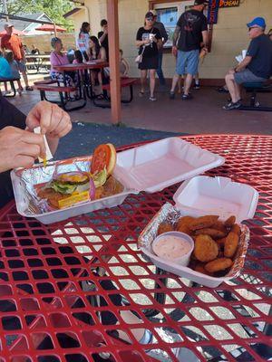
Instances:
[[[224,157],[173,137],[118,153],[115,172],[123,185],[153,193],[224,162]]]

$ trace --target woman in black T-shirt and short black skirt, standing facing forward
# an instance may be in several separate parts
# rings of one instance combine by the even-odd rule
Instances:
[[[139,63],[141,70],[141,91],[139,95],[144,94],[144,86],[147,78],[147,72],[150,71],[150,100],[156,100],[154,97],[156,71],[159,67],[159,51],[162,42],[160,30],[154,27],[154,15],[151,12],[145,14],[144,26],[138,29],[136,35],[136,46],[139,48],[139,54],[142,60]]]

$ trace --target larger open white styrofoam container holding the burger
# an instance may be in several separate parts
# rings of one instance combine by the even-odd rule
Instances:
[[[26,217],[35,217],[43,224],[52,224],[104,207],[121,205],[129,194],[137,194],[141,191],[151,193],[160,191],[191,176],[199,175],[210,168],[218,167],[224,162],[223,157],[180,138],[161,139],[117,153],[113,176],[125,187],[121,194],[44,214],[25,213],[28,208],[28,201],[24,196],[24,182],[16,175],[15,171],[11,172],[11,179],[18,213]]]

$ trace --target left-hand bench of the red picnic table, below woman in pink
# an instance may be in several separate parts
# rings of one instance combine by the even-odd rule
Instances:
[[[76,87],[66,87],[66,86],[60,86],[57,81],[50,80],[44,80],[44,81],[35,81],[34,82],[34,89],[40,91],[41,100],[48,100],[51,103],[55,103],[63,110],[80,110],[86,105],[86,100],[84,99],[71,99],[69,94],[76,89]],[[57,92],[59,93],[59,100],[49,100],[46,96],[45,92]],[[72,106],[73,102],[76,102],[76,105]],[[80,104],[78,102],[81,102]]]

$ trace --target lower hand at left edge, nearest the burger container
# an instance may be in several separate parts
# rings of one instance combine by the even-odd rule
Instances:
[[[34,160],[44,155],[42,135],[15,127],[0,130],[0,172],[16,167],[32,167]]]

